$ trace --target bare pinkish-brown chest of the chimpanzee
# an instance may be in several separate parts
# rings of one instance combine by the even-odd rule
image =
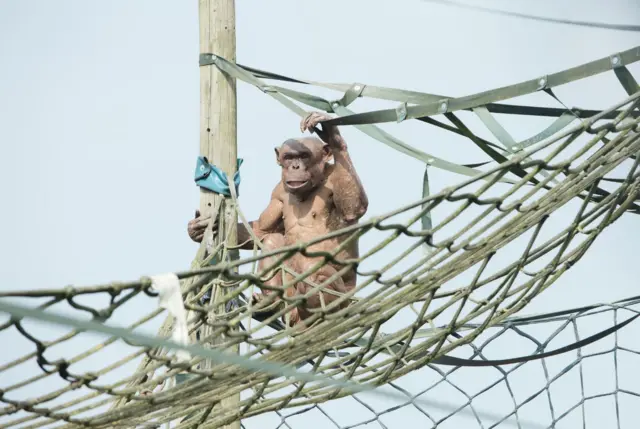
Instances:
[[[333,192],[323,186],[304,199],[288,195],[283,207],[285,229],[327,225],[335,210]]]

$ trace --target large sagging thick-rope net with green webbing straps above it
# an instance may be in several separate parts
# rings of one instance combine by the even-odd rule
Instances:
[[[370,388],[389,384],[375,392],[391,395],[394,389],[401,388],[402,380],[430,370],[436,371],[434,386],[453,388],[457,384],[452,381],[455,376],[438,369],[438,365],[451,365],[452,358],[464,357],[461,353],[469,348],[475,357],[482,358],[476,352],[485,346],[514,333],[524,335],[523,328],[510,317],[576,264],[607,226],[623,214],[640,213],[636,205],[640,191],[640,91],[626,67],[639,58],[640,49],[635,48],[544,80],[443,99],[361,84],[303,82],[211,55],[201,57],[202,66],[215,65],[232,77],[254,84],[301,115],[306,112],[297,103],[324,108],[340,116],[334,120],[336,123],[355,125],[390,147],[423,160],[427,171],[438,168],[468,178],[429,195],[425,171],[423,198],[312,242],[262,251],[256,240],[253,255],[243,258],[236,258],[238,246],[222,235],[207,243],[211,246],[208,256],[204,256],[206,245],[201,246],[192,269],[177,273],[190,341],[238,356],[239,360],[233,362],[207,359],[204,352],[194,352],[184,362],[174,356],[169,343],[157,338],[150,346],[149,342],[141,345],[131,338],[123,339],[115,331],[106,340],[90,332],[97,329],[98,325],[90,324],[94,321],[99,326],[126,327],[128,332],[169,336],[174,319],[163,308],[144,310],[146,314],[142,314],[141,309],[148,309],[157,296],[151,278],[1,293],[0,304],[16,303],[36,308],[42,314],[69,313],[75,318],[75,326],[54,329],[42,323],[45,319],[24,319],[4,307],[8,314],[0,313],[0,338],[11,347],[0,356],[0,425],[111,428],[172,422],[178,428],[214,428],[241,420],[251,427],[251,418],[267,418],[270,413],[293,408],[306,410],[306,417],[300,417],[305,419],[306,427],[308,413],[320,413],[330,419],[323,411],[324,405],[318,405],[330,400],[344,398],[341,400],[356,401],[367,408],[365,402],[352,395],[353,390],[345,388],[346,384],[335,383]],[[553,86],[610,70],[628,97],[603,111],[496,104],[537,91],[545,91],[560,101]],[[326,101],[297,90],[266,85],[263,79],[346,88],[346,92],[340,100]],[[404,98],[394,109],[360,114],[348,111],[348,104],[367,95],[387,100]],[[455,113],[459,110],[471,110],[498,143],[472,133]],[[539,134],[515,143],[497,122],[495,113],[557,119]],[[412,148],[373,125],[388,122],[390,115],[394,121],[418,119],[464,136],[491,159],[461,165]],[[432,115],[444,115],[451,125]],[[231,188],[231,198],[216,207],[216,213],[235,210],[246,224]],[[221,228],[225,231],[224,225]],[[337,236],[346,239],[330,253],[314,247]],[[336,255],[354,240],[360,240],[360,257],[339,259]],[[283,268],[283,263],[296,254],[311,258],[315,265],[301,273]],[[257,262],[266,257],[272,258],[273,263],[259,272]],[[355,269],[357,286],[338,294],[324,289],[333,278],[320,284],[310,281],[328,263],[339,267],[338,275]],[[276,298],[285,305],[270,316],[259,316],[260,308],[248,298],[260,288],[266,289],[265,279],[276,270],[288,270],[293,278],[282,287],[268,287],[275,293],[258,307],[269,306]],[[289,286],[300,282],[308,284],[305,295],[284,295]],[[309,310],[312,316],[306,320],[306,327],[283,323],[291,309],[305,306],[321,290],[321,302],[329,295],[337,299]],[[487,338],[491,333],[495,338]],[[536,337],[527,338],[536,342]],[[544,347],[536,343],[537,351],[547,346],[540,343]],[[581,359],[579,355],[576,362]],[[298,375],[267,371],[267,366],[274,363],[295,367]],[[255,370],[260,365],[264,371]],[[517,372],[518,367],[512,370]],[[471,374],[473,378],[476,371],[481,370],[456,369],[450,374]],[[502,374],[508,385],[506,374],[511,370],[498,367],[492,371]],[[552,390],[549,386],[553,377],[545,377],[548,383],[536,397],[548,396]],[[327,378],[335,383],[321,382]],[[416,383],[424,389],[427,383],[419,380]],[[386,411],[371,408],[371,417],[363,419],[361,426],[374,422],[384,427],[385,416],[401,408],[427,413],[424,404],[418,405],[423,394],[416,392]],[[240,398],[234,399],[237,395]],[[473,411],[473,404],[469,403],[470,398],[482,395],[457,395],[462,395],[466,404],[463,408],[471,410],[472,420],[483,427],[479,412]],[[588,398],[583,392],[580,403]],[[510,404],[513,409],[495,421],[518,418],[515,410],[524,402],[518,397]],[[453,421],[451,416],[430,413],[426,418],[434,426],[439,421]],[[455,410],[452,413],[463,414]],[[564,418],[558,411],[551,413],[550,422]],[[296,419],[294,415],[280,416],[283,420],[275,426],[294,427],[290,423]],[[333,424],[345,425],[335,421]]]

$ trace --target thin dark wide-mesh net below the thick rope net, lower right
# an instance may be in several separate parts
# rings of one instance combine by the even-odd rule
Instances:
[[[584,339],[586,333],[617,324],[639,310],[640,297],[633,297],[512,317],[458,350],[476,360],[512,349],[543,353]],[[632,428],[640,404],[638,326],[634,328],[537,362],[453,369],[427,364],[385,387],[404,399],[383,401],[354,394],[327,404],[252,417],[242,427]]]

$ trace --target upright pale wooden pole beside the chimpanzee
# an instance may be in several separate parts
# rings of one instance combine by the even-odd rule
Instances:
[[[214,54],[229,61],[236,60],[236,16],[235,0],[199,0],[200,21],[200,53]],[[206,156],[209,162],[222,171],[233,186],[233,175],[236,172],[237,151],[237,99],[236,82],[233,78],[223,74],[215,65],[200,67],[200,154]],[[211,214],[219,205],[222,205],[222,214],[218,218],[218,233],[213,236],[205,234],[203,246],[213,248],[227,239],[228,245],[237,242],[237,215],[231,201],[221,195],[200,190],[200,213]],[[209,231],[207,231],[209,232]],[[208,243],[207,243],[208,241]],[[237,251],[232,257],[237,257]],[[212,290],[214,300],[224,293],[222,288]],[[216,312],[224,311],[224,306]],[[216,314],[210,314],[209,318],[215,318]],[[211,333],[210,329],[201,332],[201,338]],[[212,341],[204,346],[215,347],[218,341]],[[236,347],[233,352],[238,352]],[[207,367],[211,362],[207,362]],[[223,407],[234,407],[240,401],[240,395],[222,400]],[[215,408],[209,416],[215,416]],[[228,429],[240,429],[237,421]]]

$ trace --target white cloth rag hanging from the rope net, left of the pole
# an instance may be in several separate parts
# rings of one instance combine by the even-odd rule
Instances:
[[[180,280],[173,273],[151,277],[151,288],[160,294],[158,305],[165,308],[173,316],[173,332],[171,339],[178,344],[189,344],[189,329],[187,328],[187,311],[182,301]],[[191,360],[191,354],[178,350],[176,357],[179,362]]]

